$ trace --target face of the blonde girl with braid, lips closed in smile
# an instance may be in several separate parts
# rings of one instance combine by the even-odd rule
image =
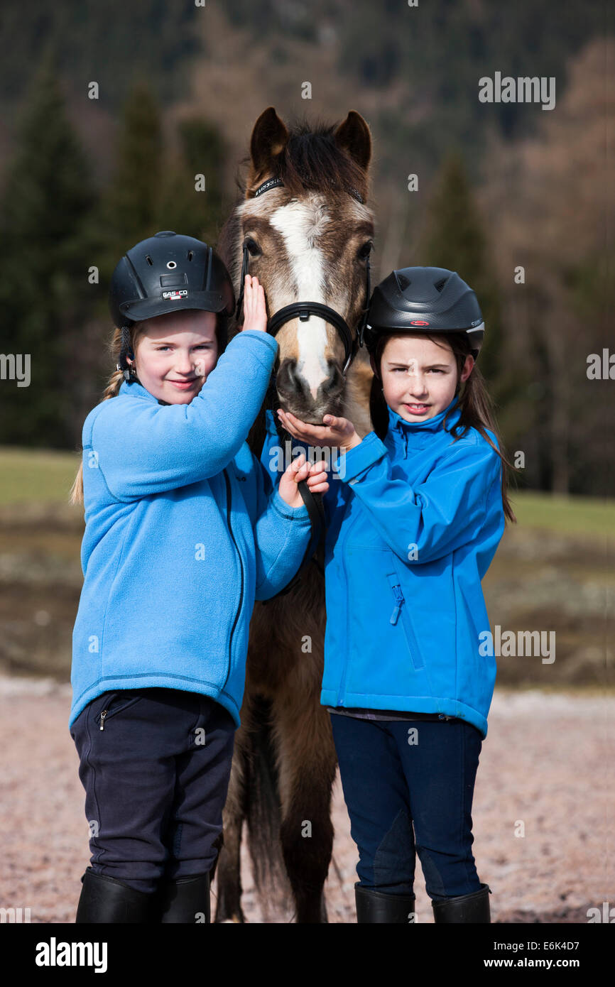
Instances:
[[[139,382],[158,400],[189,405],[216,364],[215,327],[215,313],[198,309],[145,319],[134,347]]]

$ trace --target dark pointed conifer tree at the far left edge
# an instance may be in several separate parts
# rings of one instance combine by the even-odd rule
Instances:
[[[0,193],[2,351],[30,356],[30,384],[0,380],[0,442],[61,446],[70,433],[70,327],[87,294],[81,230],[90,168],[48,54],[33,79]]]

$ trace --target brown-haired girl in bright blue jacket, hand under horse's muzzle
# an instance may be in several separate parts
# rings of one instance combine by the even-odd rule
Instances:
[[[366,320],[374,430],[361,441],[346,418],[277,413],[295,438],[341,450],[324,498],[321,703],[359,852],[358,922],[416,921],[416,854],[436,923],[491,921],[472,854],[496,680],[481,580],[516,518],[474,365],[483,337],[456,272],[394,270]]]

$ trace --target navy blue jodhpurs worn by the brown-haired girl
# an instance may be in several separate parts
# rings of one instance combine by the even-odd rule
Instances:
[[[481,886],[472,855],[476,726],[330,714],[363,887],[414,894],[416,854],[437,901]]]

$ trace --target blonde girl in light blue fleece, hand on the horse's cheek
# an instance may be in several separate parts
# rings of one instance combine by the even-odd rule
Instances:
[[[110,301],[119,363],[72,492],[86,529],[69,728],[92,851],[76,921],[209,922],[254,602],[299,569],[297,483],[324,493],[327,475],[299,457],[276,488],[246,442],[277,354],[257,278],[228,345],[230,278],[192,237],[129,250]]]

